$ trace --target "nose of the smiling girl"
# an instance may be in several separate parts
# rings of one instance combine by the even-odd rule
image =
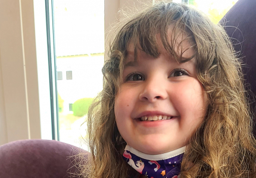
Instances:
[[[167,96],[167,85],[164,84],[163,80],[155,79],[145,81],[141,94],[139,94],[139,100],[154,103],[166,99]]]

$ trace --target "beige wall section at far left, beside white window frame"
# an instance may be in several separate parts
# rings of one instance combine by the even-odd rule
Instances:
[[[0,145],[40,138],[33,1],[0,1]]]

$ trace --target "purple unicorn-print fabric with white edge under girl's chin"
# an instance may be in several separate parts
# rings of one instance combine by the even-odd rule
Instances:
[[[164,154],[149,155],[126,145],[123,157],[133,169],[146,177],[177,178],[185,150],[186,147],[182,147]]]

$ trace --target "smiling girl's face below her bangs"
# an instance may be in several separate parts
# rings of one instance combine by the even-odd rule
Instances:
[[[183,42],[184,49],[188,46]],[[177,63],[161,44],[160,52],[154,59],[139,51],[135,62],[130,50],[124,82],[115,97],[118,131],[127,144],[146,154],[187,145],[207,108],[207,96],[196,78],[195,59]],[[192,49],[183,54],[192,55]]]

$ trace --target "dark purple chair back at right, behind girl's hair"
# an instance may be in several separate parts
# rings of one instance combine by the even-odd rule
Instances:
[[[256,1],[239,0],[220,21],[227,34],[232,39],[233,46],[242,59],[245,87],[251,91],[248,94],[251,110],[255,117],[256,95]],[[256,128],[254,125],[254,135]]]

